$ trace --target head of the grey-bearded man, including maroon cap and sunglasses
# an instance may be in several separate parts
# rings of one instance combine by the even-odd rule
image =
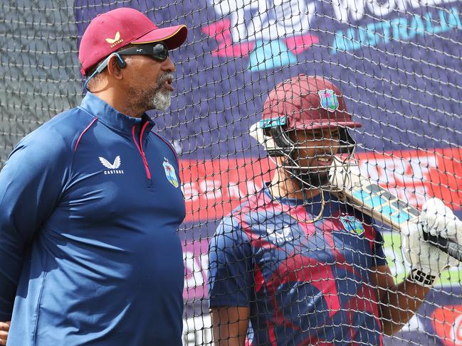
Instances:
[[[149,109],[166,110],[175,70],[169,50],[186,37],[186,26],[157,28],[135,9],[98,15],[80,41],[85,88],[130,117],[141,117]]]

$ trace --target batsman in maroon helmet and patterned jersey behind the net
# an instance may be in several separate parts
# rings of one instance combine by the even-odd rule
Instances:
[[[458,261],[424,232],[462,240],[462,222],[427,200],[401,229],[409,276],[394,283],[372,219],[335,198],[332,167],[354,164],[340,90],[298,75],[272,90],[251,132],[275,162],[271,182],[221,221],[209,248],[215,345],[382,345]]]

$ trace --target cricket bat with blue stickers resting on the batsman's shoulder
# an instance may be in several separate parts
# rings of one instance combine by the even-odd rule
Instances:
[[[419,222],[418,209],[400,200],[376,182],[359,173],[347,171],[345,166],[332,166],[330,183],[337,188],[337,190],[332,189],[332,194],[339,200],[348,202],[352,207],[398,232],[408,222]],[[424,232],[424,239],[458,261],[462,261],[462,245],[457,242],[434,237],[426,232]]]

